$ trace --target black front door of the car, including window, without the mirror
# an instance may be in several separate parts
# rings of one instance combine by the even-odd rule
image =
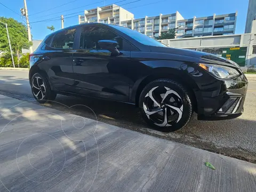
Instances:
[[[111,55],[98,41],[115,40],[121,54]],[[119,101],[129,100],[131,45],[101,26],[81,27],[79,49],[73,54],[75,89],[79,94]]]

